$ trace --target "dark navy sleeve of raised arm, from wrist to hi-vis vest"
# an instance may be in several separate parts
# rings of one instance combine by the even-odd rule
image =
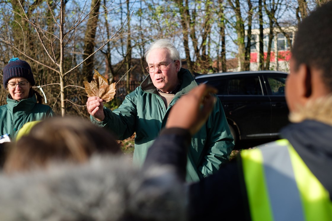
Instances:
[[[170,165],[185,181],[191,136],[180,128],[164,129],[147,152],[143,170]],[[222,164],[219,171],[188,186],[188,220],[250,220],[241,159]]]

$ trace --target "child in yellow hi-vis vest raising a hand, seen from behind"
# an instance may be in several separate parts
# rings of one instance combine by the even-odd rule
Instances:
[[[188,220],[332,220],[331,13],[329,2],[298,27],[286,82],[292,123],[281,139],[242,150],[216,174],[187,184]],[[145,167],[169,164],[184,180],[186,145],[209,92],[201,85],[173,106]]]

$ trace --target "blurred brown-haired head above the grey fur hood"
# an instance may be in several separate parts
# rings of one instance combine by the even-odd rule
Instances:
[[[96,153],[121,152],[108,131],[73,117],[41,121],[13,144],[4,165],[7,173],[47,168],[54,161],[84,163]]]

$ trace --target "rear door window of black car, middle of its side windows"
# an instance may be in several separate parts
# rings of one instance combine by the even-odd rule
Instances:
[[[258,77],[230,78],[227,84],[229,95],[262,95]]]

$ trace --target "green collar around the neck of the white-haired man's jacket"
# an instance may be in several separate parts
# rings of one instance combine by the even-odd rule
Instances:
[[[180,94],[186,94],[188,93],[192,88],[197,86],[197,83],[190,73],[189,70],[181,68],[179,73],[178,73],[178,78],[182,80],[182,84],[178,90],[178,92],[175,93],[175,95],[180,95]],[[157,93],[156,92],[156,87],[153,85],[153,82],[151,80],[150,75],[148,75],[143,82],[140,84],[142,90],[147,93]]]

